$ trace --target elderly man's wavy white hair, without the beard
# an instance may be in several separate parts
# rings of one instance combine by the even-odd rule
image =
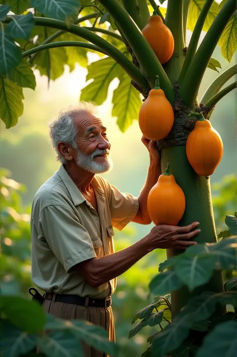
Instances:
[[[61,163],[66,163],[66,159],[57,148],[58,142],[64,142],[77,149],[76,134],[77,128],[73,123],[76,114],[95,114],[96,105],[93,102],[80,101],[76,106],[69,106],[60,111],[58,118],[49,122],[49,136],[52,148],[56,151],[56,159]]]

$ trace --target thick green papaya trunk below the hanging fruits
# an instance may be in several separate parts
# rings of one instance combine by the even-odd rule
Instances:
[[[216,233],[214,226],[214,217],[211,203],[210,179],[209,177],[198,176],[189,164],[185,145],[170,146],[161,150],[161,169],[165,170],[167,162],[170,163],[170,173],[174,175],[177,184],[182,188],[186,207],[179,225],[187,225],[193,221],[200,222],[201,232],[193,240],[197,243],[215,243]],[[168,249],[167,257],[177,255],[181,252],[179,249]],[[186,304],[187,300],[200,294],[202,291],[223,291],[222,273],[216,271],[209,282],[203,286],[197,287],[192,292],[187,287],[182,287],[171,293],[172,317],[177,314],[180,308]],[[217,311],[218,314],[225,313],[225,308]]]

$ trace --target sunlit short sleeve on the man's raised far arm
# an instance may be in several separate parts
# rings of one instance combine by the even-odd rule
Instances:
[[[130,193],[122,193],[115,186],[110,185],[110,214],[112,225],[122,230],[136,215],[138,199]]]

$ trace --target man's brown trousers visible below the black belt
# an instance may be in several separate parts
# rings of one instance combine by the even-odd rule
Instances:
[[[62,319],[82,319],[102,326],[108,331],[110,341],[115,341],[113,314],[110,307],[80,306],[71,303],[44,300],[43,311]],[[108,357],[106,353],[94,349],[82,342],[85,357]]]

